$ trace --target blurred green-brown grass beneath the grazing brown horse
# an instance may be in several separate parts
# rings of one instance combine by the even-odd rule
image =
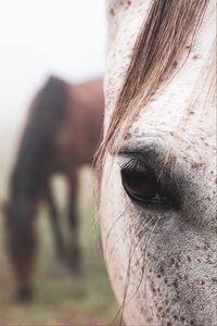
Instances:
[[[1,160],[1,200],[7,198],[9,170],[10,164]],[[4,249],[3,216],[0,215],[0,325],[111,325],[117,306],[104,267],[99,231],[93,227],[91,174],[82,172],[80,183],[82,273],[72,276],[56,262],[47,210],[41,206],[37,220],[36,298],[30,304],[18,305],[13,301],[14,278]],[[64,226],[65,187],[60,179],[55,180],[55,191]]]

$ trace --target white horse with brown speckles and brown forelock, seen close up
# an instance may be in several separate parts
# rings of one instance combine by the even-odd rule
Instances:
[[[95,196],[120,324],[216,325],[215,1],[106,12]]]

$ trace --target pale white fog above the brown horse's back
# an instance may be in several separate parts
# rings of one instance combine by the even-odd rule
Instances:
[[[0,0],[0,128],[18,128],[50,74],[72,82],[102,74],[104,1]]]

